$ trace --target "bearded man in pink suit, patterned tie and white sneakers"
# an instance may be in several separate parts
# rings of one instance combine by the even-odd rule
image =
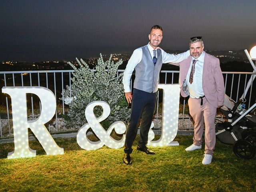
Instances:
[[[214,154],[215,116],[224,104],[224,80],[218,58],[204,52],[202,37],[190,39],[190,56],[180,63],[180,94],[188,99],[189,112],[194,120],[193,144],[186,151],[202,148],[205,123],[205,149],[202,164],[210,164]],[[204,119],[202,119],[204,118]]]

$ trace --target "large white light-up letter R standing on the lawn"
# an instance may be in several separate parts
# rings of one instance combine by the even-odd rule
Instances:
[[[34,157],[36,150],[28,145],[28,128],[34,133],[46,154],[63,154],[44,126],[50,121],[56,111],[56,100],[51,90],[44,87],[3,87],[2,92],[10,95],[12,100],[12,122],[14,134],[14,151],[9,152],[7,158]],[[41,101],[41,114],[35,120],[28,121],[26,93],[36,94]]]

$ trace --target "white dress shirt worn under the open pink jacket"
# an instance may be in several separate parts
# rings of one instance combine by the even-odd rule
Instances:
[[[195,64],[195,73],[193,76],[193,82],[190,84],[189,82],[189,76],[190,76],[190,71],[192,68],[192,63],[195,58],[192,57],[190,67],[188,69],[188,74],[186,76],[186,82],[188,85],[188,91],[189,95],[192,98],[199,98],[204,96],[204,91],[203,91],[203,67],[204,67],[204,51],[202,54],[196,59],[198,60]]]

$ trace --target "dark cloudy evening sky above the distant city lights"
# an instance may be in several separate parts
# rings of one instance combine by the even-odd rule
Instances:
[[[0,61],[41,61],[132,53],[163,28],[160,47],[207,50],[256,45],[256,0],[1,0]]]

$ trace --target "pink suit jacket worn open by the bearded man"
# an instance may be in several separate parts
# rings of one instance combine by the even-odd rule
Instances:
[[[186,76],[190,67],[192,56],[183,60],[180,63],[172,63],[180,66],[180,94],[183,97],[189,96],[188,87],[186,84]],[[214,106],[222,106],[224,104],[224,80],[220,69],[220,60],[210,54],[204,52],[204,67],[202,86],[206,99]]]

